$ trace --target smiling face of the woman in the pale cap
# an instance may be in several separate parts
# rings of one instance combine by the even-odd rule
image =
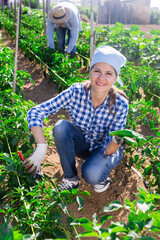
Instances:
[[[96,63],[90,72],[91,89],[98,92],[108,92],[116,83],[117,74],[115,69],[107,63]]]

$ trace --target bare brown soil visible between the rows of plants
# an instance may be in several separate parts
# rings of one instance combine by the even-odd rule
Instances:
[[[155,26],[155,28],[154,28]],[[148,34],[151,29],[157,29],[157,25],[143,26],[141,31],[144,31]],[[6,35],[5,32],[1,30],[3,44],[10,47],[11,49],[15,49],[15,43],[10,40],[10,38]],[[31,99],[34,102],[41,103],[45,100],[48,100],[54,97],[56,92],[56,85],[50,81],[48,81],[48,77],[44,77],[43,70],[39,65],[34,62],[30,62],[19,50],[18,53],[18,70],[24,70],[30,73],[32,79],[35,81],[35,85],[31,82],[26,82],[23,86],[25,99]],[[69,115],[65,109],[61,110],[57,114],[51,117],[51,122],[54,123],[61,118],[61,114],[65,115],[67,119],[69,119]],[[148,129],[140,129],[141,133],[144,135],[152,135],[152,133]],[[145,188],[143,185],[143,181],[139,178],[139,176],[133,171],[129,170],[128,167],[122,161],[121,164],[116,167],[112,173],[112,183],[109,186],[108,190],[103,193],[94,192],[92,186],[88,185],[81,177],[81,165],[83,160],[76,159],[77,169],[80,177],[80,191],[86,190],[90,193],[90,197],[84,197],[84,208],[83,211],[80,212],[77,210],[76,205],[72,205],[71,209],[74,211],[74,215],[77,217],[86,217],[89,220],[92,220],[92,216],[94,213],[97,214],[98,217],[102,215],[101,210],[104,206],[113,200],[119,200],[122,204],[125,204],[126,199],[128,198],[130,201],[136,199],[134,193],[138,192],[138,188]],[[52,166],[45,167],[42,169],[42,173],[45,173],[49,176],[55,177],[58,182],[61,182],[63,178],[63,172],[61,169],[59,156],[57,154],[56,148],[49,147],[46,157],[44,159],[45,164],[50,164]],[[127,222],[128,220],[128,212],[127,210],[118,210],[113,212],[112,215],[114,218],[112,221],[121,221]],[[108,222],[107,224],[110,224]],[[92,240],[95,238],[86,238],[88,240]]]

